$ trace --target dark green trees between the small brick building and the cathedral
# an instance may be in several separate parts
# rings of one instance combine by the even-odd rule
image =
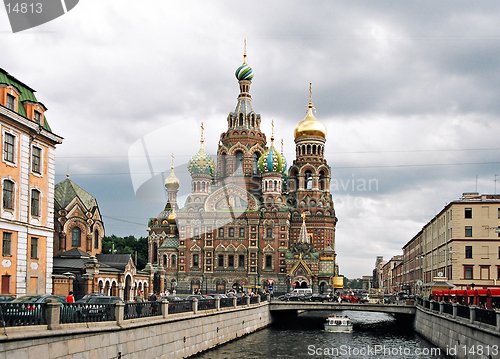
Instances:
[[[135,262],[135,252],[137,251],[137,269],[143,269],[148,263],[148,239],[134,236],[117,237],[114,234],[105,236],[102,239],[103,254],[131,254]]]

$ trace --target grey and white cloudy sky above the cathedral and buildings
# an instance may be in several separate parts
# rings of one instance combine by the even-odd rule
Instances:
[[[56,182],[69,166],[97,198],[107,235],[146,236],[165,205],[170,154],[185,195],[202,121],[216,152],[246,38],[254,110],[268,136],[274,119],[289,162],[313,84],[338,262],[352,278],[400,254],[463,192],[495,192],[499,19],[493,0],[85,0],[13,34],[0,8],[0,67],[37,90],[64,137]]]

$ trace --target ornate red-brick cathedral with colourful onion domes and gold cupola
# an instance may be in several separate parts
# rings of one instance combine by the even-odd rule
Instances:
[[[274,124],[270,143],[260,129],[246,53],[235,75],[240,93],[220,135],[217,158],[203,148],[202,124],[200,149],[187,165],[191,193],[183,207],[177,203],[181,183],[172,159],[167,204],[148,223],[154,288],[177,293],[332,290],[338,276],[337,218],[324,157],[326,127],[313,114],[311,90],[307,115],[294,130],[295,159],[287,168],[283,148],[276,149]]]

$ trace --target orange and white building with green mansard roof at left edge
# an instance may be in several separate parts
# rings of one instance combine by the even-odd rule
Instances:
[[[35,90],[0,69],[1,293],[52,292],[55,146]]]

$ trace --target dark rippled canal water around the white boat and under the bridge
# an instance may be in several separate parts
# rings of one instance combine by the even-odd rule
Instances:
[[[194,358],[449,358],[446,350],[418,336],[411,323],[388,314],[337,312],[351,318],[352,333],[324,331],[329,314],[308,312],[292,323],[273,325]]]

